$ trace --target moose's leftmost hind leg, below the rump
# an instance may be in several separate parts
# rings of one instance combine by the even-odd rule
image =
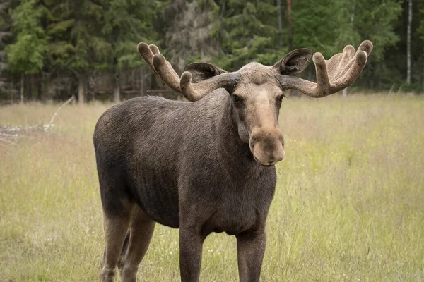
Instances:
[[[124,245],[129,220],[131,219],[131,211],[134,207],[134,204],[127,200],[115,200],[114,203],[117,205],[116,207],[119,207],[119,212],[117,212],[117,209],[109,209],[110,205],[107,201],[102,202],[106,247],[101,262],[101,282],[113,282],[114,280],[115,268],[122,252],[122,245]]]

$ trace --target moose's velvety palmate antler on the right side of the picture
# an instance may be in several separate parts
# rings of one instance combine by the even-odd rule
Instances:
[[[317,71],[317,83],[289,75],[281,75],[281,87],[283,90],[298,90],[314,98],[336,93],[355,82],[362,73],[371,51],[372,42],[365,40],[360,44],[356,54],[352,45],[344,47],[343,53],[332,56],[328,61],[324,59],[321,53],[315,53],[312,60]]]

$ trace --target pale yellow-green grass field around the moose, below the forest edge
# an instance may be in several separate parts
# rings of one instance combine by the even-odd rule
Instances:
[[[109,106],[66,106],[48,135],[0,144],[1,282],[98,281],[92,134]],[[56,109],[2,107],[0,125],[48,123]],[[424,281],[424,97],[285,99],[280,119],[261,281]],[[179,281],[178,260],[178,231],[157,225],[139,280]],[[235,238],[210,235],[201,281],[237,279]]]

